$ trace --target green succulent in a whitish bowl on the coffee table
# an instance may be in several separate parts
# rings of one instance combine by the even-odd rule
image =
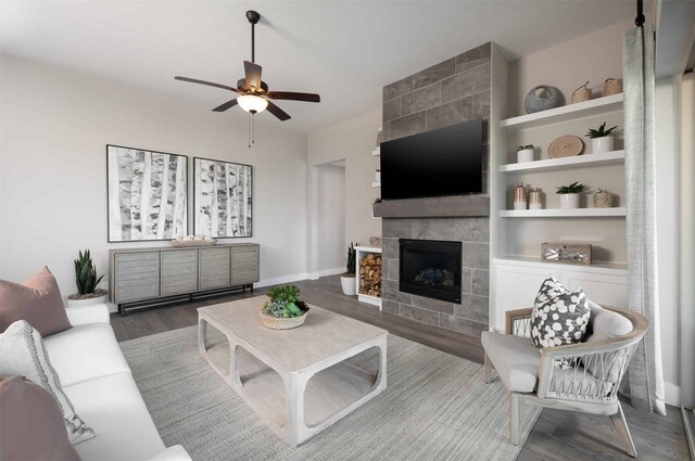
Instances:
[[[300,326],[306,320],[308,305],[300,300],[296,285],[273,286],[268,290],[268,302],[261,309],[261,321],[273,330]]]

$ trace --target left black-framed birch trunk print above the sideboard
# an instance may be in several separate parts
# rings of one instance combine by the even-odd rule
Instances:
[[[109,242],[188,233],[188,157],[106,145]]]

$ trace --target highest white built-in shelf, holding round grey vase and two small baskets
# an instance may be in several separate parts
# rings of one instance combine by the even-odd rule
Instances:
[[[622,108],[622,93],[597,98],[561,107],[549,108],[534,114],[520,115],[500,121],[500,127],[508,129],[534,128],[542,125],[557,124],[592,115],[607,114]]]

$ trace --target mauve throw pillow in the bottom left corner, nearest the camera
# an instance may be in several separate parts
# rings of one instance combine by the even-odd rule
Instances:
[[[79,461],[53,397],[22,376],[0,377],[0,459]]]

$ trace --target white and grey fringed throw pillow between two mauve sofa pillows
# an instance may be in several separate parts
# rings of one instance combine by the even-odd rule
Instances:
[[[41,335],[25,320],[12,323],[0,334],[0,375],[21,375],[43,387],[61,409],[72,444],[94,437],[94,431],[75,414],[73,405],[63,392]]]

